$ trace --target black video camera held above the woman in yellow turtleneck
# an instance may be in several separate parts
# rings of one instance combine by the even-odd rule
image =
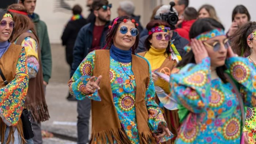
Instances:
[[[173,11],[173,6],[175,5],[175,3],[171,1],[170,5],[171,5],[170,12],[162,13],[160,14],[160,16],[155,16],[154,19],[165,20],[171,26],[174,26],[177,24],[179,19],[178,19],[177,13]]]

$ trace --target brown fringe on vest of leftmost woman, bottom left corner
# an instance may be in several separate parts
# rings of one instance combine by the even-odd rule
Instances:
[[[0,136],[1,136],[1,141],[3,143],[3,141],[5,141],[4,137],[5,137],[5,130],[7,128],[7,125],[0,119]],[[13,144],[14,143],[14,131],[15,129],[18,130],[18,135],[19,138],[21,138],[20,140],[20,144],[25,144],[26,140],[24,139],[24,135],[23,135],[23,126],[22,126],[22,121],[19,120],[18,124],[16,125],[16,127],[10,126],[9,127],[9,134],[6,140],[6,143],[9,144]]]

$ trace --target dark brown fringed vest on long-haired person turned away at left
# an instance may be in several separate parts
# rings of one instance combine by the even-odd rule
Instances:
[[[21,45],[22,41],[26,37],[31,37],[37,41],[37,51],[38,51],[38,62],[39,62],[39,70],[37,72],[37,76],[35,78],[29,79],[29,89],[26,96],[25,107],[32,111],[32,117],[37,122],[43,122],[49,119],[48,107],[45,101],[44,94],[44,80],[43,80],[43,72],[42,72],[42,64],[41,64],[41,49],[38,42],[38,39],[35,37],[33,33],[23,33],[21,34],[17,40],[16,44]]]

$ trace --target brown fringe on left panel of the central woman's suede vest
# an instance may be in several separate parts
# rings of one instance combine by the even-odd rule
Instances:
[[[118,144],[131,144],[122,128],[92,133],[90,144],[95,144],[94,142],[96,142],[96,144],[113,144],[114,140],[116,140]]]

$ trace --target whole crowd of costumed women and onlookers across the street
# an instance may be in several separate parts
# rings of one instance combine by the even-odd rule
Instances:
[[[50,43],[35,4],[0,9],[3,144],[42,144],[49,119]],[[87,0],[87,18],[72,8],[61,39],[78,144],[256,143],[256,22],[237,5],[225,33],[212,5],[188,5],[155,7],[145,28],[129,0],[113,20],[108,0]]]

